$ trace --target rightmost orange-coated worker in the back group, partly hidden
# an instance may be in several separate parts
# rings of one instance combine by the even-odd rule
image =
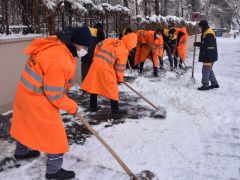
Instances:
[[[182,67],[182,63],[186,61],[187,58],[187,40],[188,33],[185,27],[185,23],[181,23],[180,28],[177,28],[177,54],[180,57],[179,67]]]

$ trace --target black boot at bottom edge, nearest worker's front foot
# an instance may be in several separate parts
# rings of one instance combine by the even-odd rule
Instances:
[[[67,171],[65,169],[60,169],[58,172],[54,174],[46,174],[46,179],[58,179],[58,180],[64,180],[64,179],[72,179],[75,178],[74,171]]]

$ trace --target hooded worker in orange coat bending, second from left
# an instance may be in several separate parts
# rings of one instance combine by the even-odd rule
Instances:
[[[90,93],[90,111],[98,110],[97,95],[111,100],[113,114],[125,114],[119,109],[118,83],[124,81],[127,58],[137,44],[137,35],[129,33],[121,40],[109,38],[99,43],[94,52],[93,63],[81,89]]]

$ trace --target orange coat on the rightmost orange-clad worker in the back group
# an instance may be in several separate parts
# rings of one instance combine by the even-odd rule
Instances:
[[[181,57],[183,61],[186,61],[188,33],[185,27],[179,28],[179,31],[183,32],[184,35],[181,37],[177,47],[178,55]]]

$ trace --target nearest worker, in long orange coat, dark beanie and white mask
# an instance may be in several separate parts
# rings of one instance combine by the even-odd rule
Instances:
[[[14,99],[10,134],[17,141],[16,159],[47,153],[46,178],[70,179],[73,171],[61,168],[68,151],[67,136],[59,110],[76,114],[78,106],[68,98],[76,59],[87,54],[91,43],[88,27],[69,28],[57,36],[35,39],[25,50],[29,59]]]

